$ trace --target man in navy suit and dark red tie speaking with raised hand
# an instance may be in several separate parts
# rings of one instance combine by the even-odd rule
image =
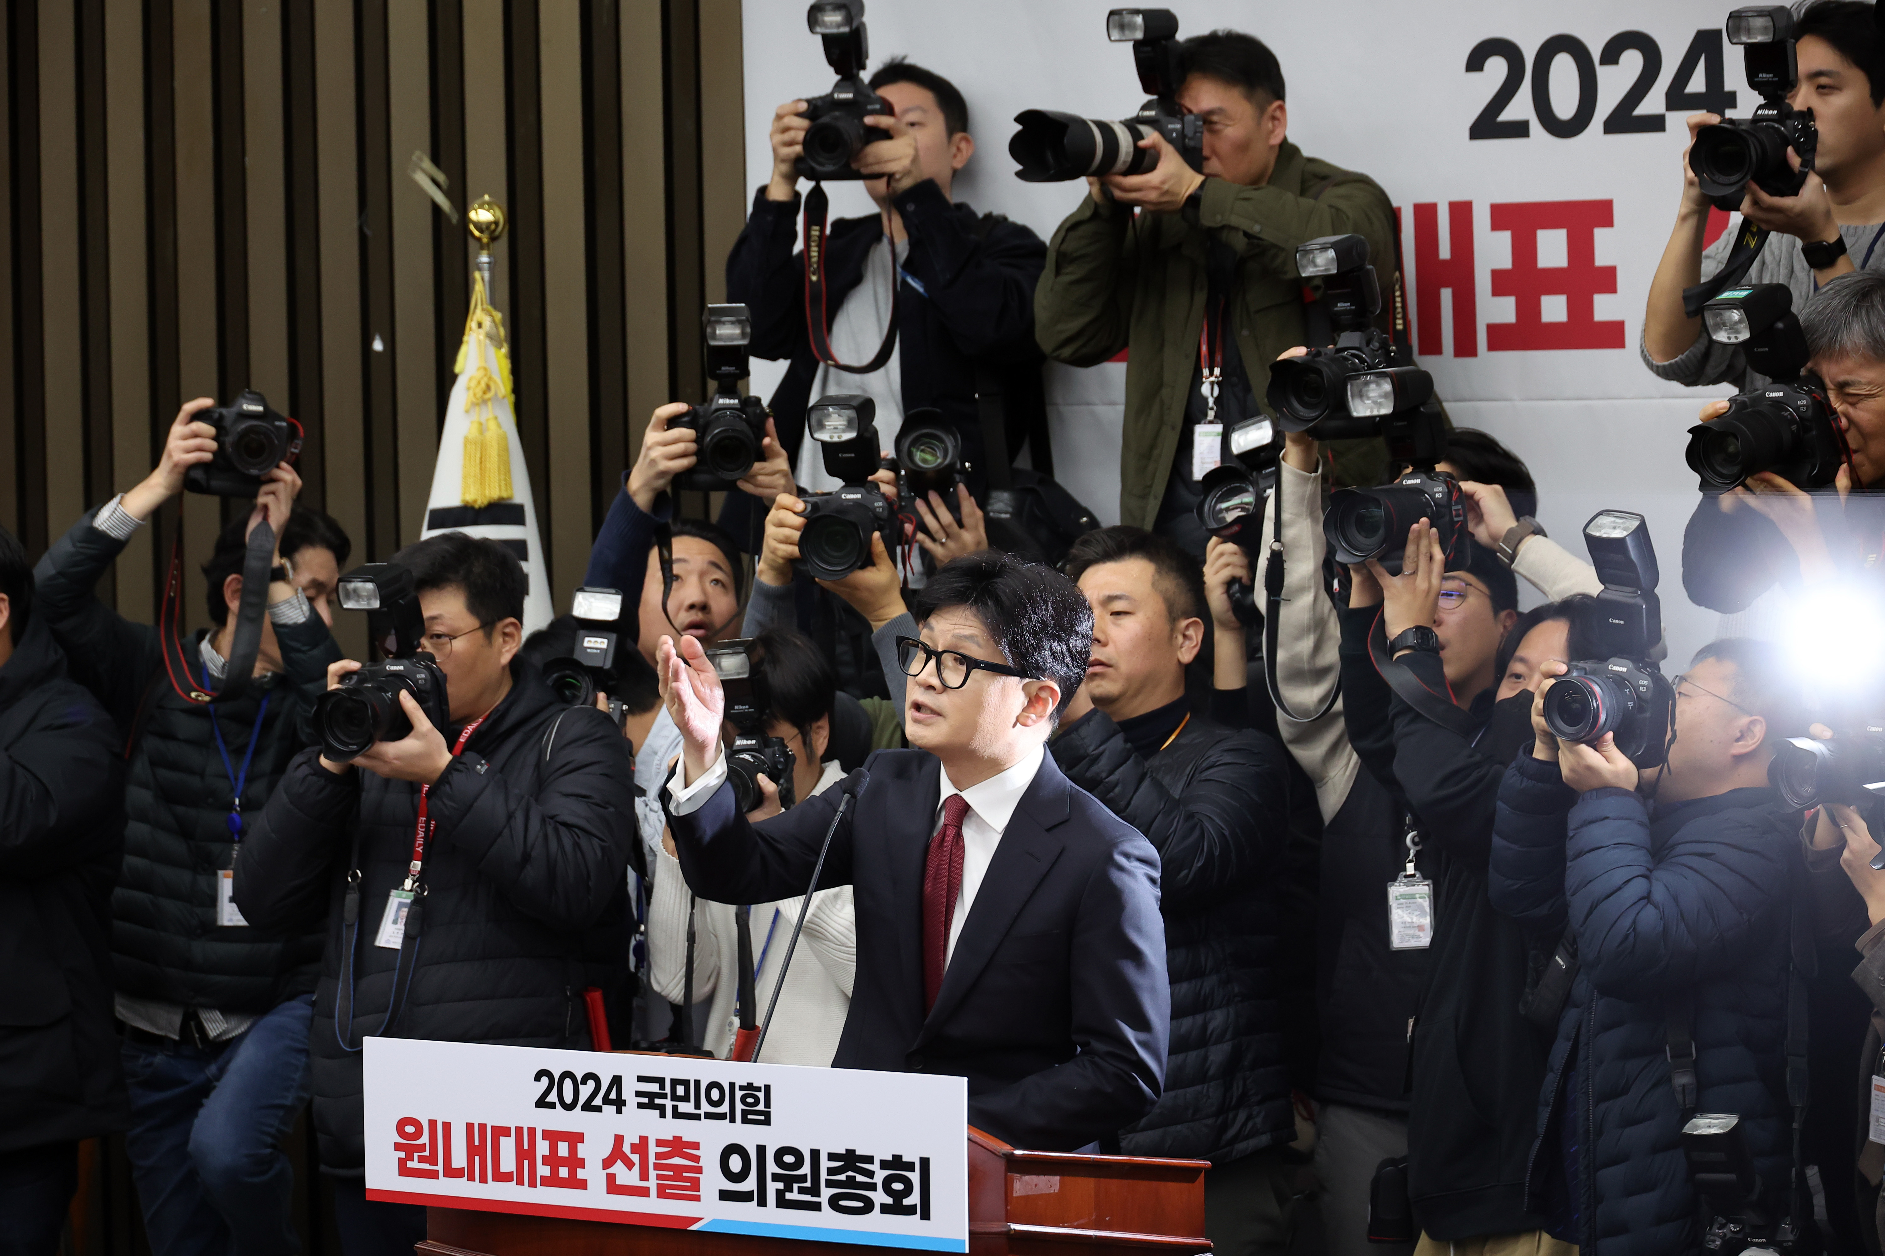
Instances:
[[[1171,987],[1159,857],[1044,753],[1086,676],[1093,612],[1065,576],[1003,554],[942,567],[899,642],[905,734],[831,840],[818,887],[852,885],[858,975],[837,1068],[969,1079],[971,1124],[1018,1147],[1110,1143],[1165,1079]],[[720,753],[701,644],[660,646],[680,729],[669,825],[718,902],[805,891],[843,791],[750,825]]]

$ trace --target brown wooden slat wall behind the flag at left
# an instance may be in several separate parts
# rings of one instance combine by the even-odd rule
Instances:
[[[739,56],[739,0],[9,4],[0,525],[41,552],[183,401],[249,386],[303,424],[303,501],[352,561],[413,540],[475,256],[407,177],[424,151],[511,220],[492,288],[562,608],[648,412],[705,395],[699,309],[748,200]],[[238,510],[185,501],[187,625]],[[168,529],[100,589],[124,614],[155,618]]]

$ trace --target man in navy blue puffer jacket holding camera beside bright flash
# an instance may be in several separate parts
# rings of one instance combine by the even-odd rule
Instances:
[[[1551,734],[1546,712],[1565,684],[1538,689],[1533,749],[1499,787],[1491,853],[1493,904],[1542,934],[1568,928],[1578,947],[1525,1201],[1585,1250],[1700,1250],[1723,1222],[1757,1245],[1779,1222],[1798,1235],[1813,1222],[1793,1186],[1800,1113],[1785,1096],[1789,1021],[1806,1017],[1793,957],[1808,906],[1798,817],[1768,785],[1793,721],[1781,661],[1746,638],[1696,652],[1666,740],[1655,734],[1666,763],[1653,780],[1612,734],[1595,746]],[[1685,1145],[1700,1154],[1687,1160]],[[1736,1164],[1747,1171],[1727,1179],[1725,1200]]]

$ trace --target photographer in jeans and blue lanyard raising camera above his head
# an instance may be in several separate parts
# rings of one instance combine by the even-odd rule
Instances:
[[[296,507],[287,463],[230,467],[230,427],[258,424],[243,401],[187,403],[151,475],[81,518],[40,559],[34,618],[68,670],[111,714],[126,749],[124,868],[111,898],[117,1017],[130,1081],[132,1160],[145,1230],[158,1256],[230,1245],[292,1247],[294,1175],[277,1151],[307,1098],[309,996],[319,936],[251,925],[230,898],[247,830],[288,761],[339,659],[328,633],[349,540],[319,510]],[[211,422],[213,420],[213,422]],[[251,433],[253,435],[253,433]],[[256,441],[260,458],[285,450]],[[94,588],[124,542],[175,493],[254,497],[204,563],[211,629],[177,640],[136,623]],[[260,522],[275,535],[254,676],[221,689],[243,618],[243,565]],[[166,608],[166,616],[172,608]],[[177,620],[181,606],[173,606]],[[181,646],[181,652],[179,652]]]

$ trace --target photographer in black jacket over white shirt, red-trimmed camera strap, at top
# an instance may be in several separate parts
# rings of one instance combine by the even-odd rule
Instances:
[[[861,41],[861,28],[856,36]],[[826,40],[828,56],[835,38]],[[771,409],[799,484],[814,490],[837,482],[826,475],[818,446],[805,439],[812,397],[871,397],[886,448],[905,414],[933,407],[973,465],[982,463],[976,395],[990,392],[978,378],[999,377],[1010,429],[1022,411],[1041,407],[1033,324],[1044,245],[1018,222],[950,200],[956,171],[975,154],[963,94],[942,75],[901,58],[880,66],[869,90],[886,113],[861,119],[865,141],[843,171],[807,169],[807,102],[779,105],[773,177],[754,196],[726,262],[728,299],[752,311],[752,352],[792,363]],[[826,311],[828,328],[807,326],[809,279],[803,254],[794,252],[801,175],[861,179],[878,205],[871,217],[829,226],[820,258],[824,299],[812,305]],[[854,373],[839,362],[871,369]],[[988,456],[1005,459],[1008,452]],[[980,484],[971,488],[978,491]],[[729,499],[722,525],[743,535],[750,508]]]

